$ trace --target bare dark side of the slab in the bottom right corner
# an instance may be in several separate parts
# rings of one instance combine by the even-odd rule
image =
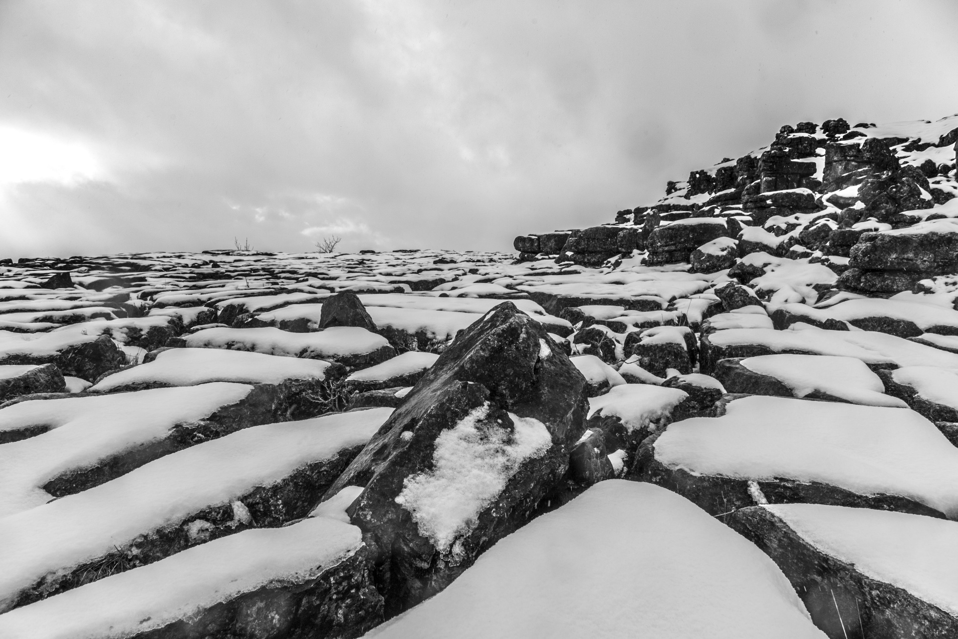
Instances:
[[[958,619],[907,590],[859,572],[855,565],[812,546],[775,513],[760,506],[724,517],[778,564],[830,639],[945,639]]]

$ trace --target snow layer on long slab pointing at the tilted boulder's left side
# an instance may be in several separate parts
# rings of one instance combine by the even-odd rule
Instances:
[[[103,557],[138,536],[179,525],[194,513],[275,484],[297,468],[365,445],[392,412],[371,408],[245,428],[0,519],[0,545],[5,548],[0,556],[0,610],[19,590],[48,573]]]

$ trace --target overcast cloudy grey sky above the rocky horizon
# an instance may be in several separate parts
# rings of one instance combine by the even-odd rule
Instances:
[[[0,0],[0,258],[512,251],[782,125],[958,112],[958,3]]]

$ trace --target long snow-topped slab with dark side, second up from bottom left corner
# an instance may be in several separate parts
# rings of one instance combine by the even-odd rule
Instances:
[[[253,426],[0,518],[0,610],[306,516],[392,412]]]

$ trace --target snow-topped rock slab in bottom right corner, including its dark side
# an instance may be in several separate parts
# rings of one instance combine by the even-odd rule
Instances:
[[[958,524],[916,514],[787,504],[726,522],[775,560],[834,639],[958,635]]]

